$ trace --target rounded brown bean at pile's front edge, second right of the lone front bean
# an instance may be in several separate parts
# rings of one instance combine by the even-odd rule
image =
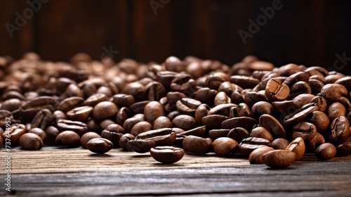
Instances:
[[[229,137],[220,137],[213,141],[212,146],[213,152],[217,155],[229,155],[238,148],[239,144]]]

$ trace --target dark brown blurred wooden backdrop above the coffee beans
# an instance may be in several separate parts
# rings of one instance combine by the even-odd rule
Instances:
[[[85,52],[98,60],[106,49],[112,49],[114,61],[133,58],[160,63],[171,55],[192,55],[232,65],[246,55],[256,55],[277,66],[338,65],[338,71],[351,73],[351,1],[347,0],[282,0],[281,8],[261,21],[246,44],[239,30],[250,33],[249,19],[256,21],[263,15],[260,8],[279,1],[31,2],[41,7],[32,8],[37,11],[29,17],[27,1],[0,0],[0,56],[20,58],[34,51],[44,60],[69,61]],[[22,27],[16,25],[18,15],[27,15],[25,24],[19,24]],[[13,37],[8,23],[18,27],[11,29]]]

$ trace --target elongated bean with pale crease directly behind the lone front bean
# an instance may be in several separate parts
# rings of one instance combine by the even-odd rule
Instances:
[[[156,146],[170,146],[176,140],[176,132],[170,128],[150,130],[135,136],[135,139],[154,141]]]

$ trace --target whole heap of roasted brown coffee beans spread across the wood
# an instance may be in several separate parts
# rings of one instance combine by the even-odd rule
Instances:
[[[166,164],[214,152],[276,168],[305,153],[351,154],[351,77],[319,66],[255,56],[232,66],[192,56],[114,63],[84,53],[63,63],[26,53],[0,57],[0,68],[0,142],[25,150],[123,148]]]

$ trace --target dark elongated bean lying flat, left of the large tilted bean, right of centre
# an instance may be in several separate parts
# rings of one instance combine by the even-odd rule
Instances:
[[[246,130],[251,130],[257,121],[252,117],[232,117],[222,122],[223,129],[233,129],[235,127],[242,127]]]

